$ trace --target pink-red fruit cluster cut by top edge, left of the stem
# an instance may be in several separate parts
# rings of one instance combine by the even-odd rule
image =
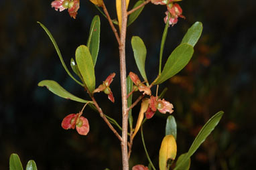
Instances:
[[[68,9],[68,13],[70,17],[73,17],[76,19],[77,11],[80,7],[80,1],[79,0],[55,0],[52,2],[52,7],[55,8],[56,11],[60,9],[60,11],[63,11],[64,9]]]

